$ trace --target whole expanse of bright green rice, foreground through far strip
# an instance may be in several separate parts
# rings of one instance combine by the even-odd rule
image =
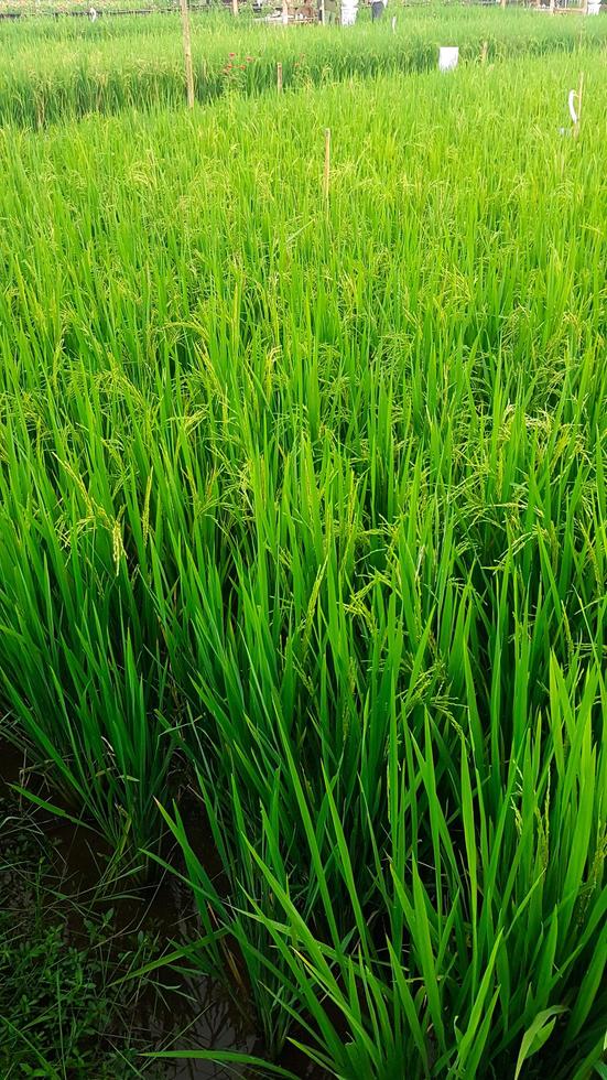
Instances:
[[[262,1076],[605,1076],[605,21],[497,14],[200,21],[192,111],[151,17],[10,28],[1,733],[175,838]]]

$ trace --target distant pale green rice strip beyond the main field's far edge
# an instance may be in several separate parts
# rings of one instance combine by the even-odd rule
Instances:
[[[253,97],[274,90],[277,64],[285,88],[305,89],[356,77],[427,72],[440,45],[456,42],[462,58],[487,60],[596,50],[605,57],[603,18],[551,19],[538,11],[399,4],[395,32],[387,18],[359,24],[267,26],[246,11],[234,20],[217,12],[192,17],[196,96],[202,102],[229,94]],[[89,112],[180,108],[183,54],[178,19],[23,19],[2,26],[0,123],[46,127]]]

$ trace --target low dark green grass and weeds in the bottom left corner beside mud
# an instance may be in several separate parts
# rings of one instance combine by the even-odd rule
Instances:
[[[156,943],[133,932],[119,948],[110,903],[79,899],[55,853],[52,832],[2,796],[0,1073],[131,1080],[145,1065],[129,1027],[142,983],[113,983],[154,957]]]

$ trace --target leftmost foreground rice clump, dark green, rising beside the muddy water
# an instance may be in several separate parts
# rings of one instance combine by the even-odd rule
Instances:
[[[158,840],[154,800],[166,791],[173,750],[166,665],[119,580],[120,522],[107,537],[83,537],[71,510],[67,521],[21,512],[19,530],[2,514],[1,693],[12,734],[25,736],[76,811],[118,850],[137,849]],[[113,572],[100,558],[110,546]]]

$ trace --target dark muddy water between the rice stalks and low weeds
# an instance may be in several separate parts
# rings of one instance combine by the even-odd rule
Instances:
[[[53,890],[61,892],[74,904],[66,904],[67,936],[74,946],[86,946],[84,920],[87,910],[100,915],[112,909],[111,930],[104,950],[118,958],[132,950],[138,935],[158,938],[161,948],[191,943],[199,935],[197,914],[189,892],[173,875],[148,885],[133,885],[127,876],[112,883],[110,897],[107,886],[100,886],[110,850],[89,829],[32,808],[26,799],[10,788],[24,787],[31,778],[23,773],[23,758],[13,747],[0,743],[0,797],[14,821],[21,814],[28,819],[37,836],[41,850],[48,860],[48,879]],[[32,785],[33,786],[33,785]],[[39,793],[52,801],[44,791]],[[1,852],[0,852],[1,855]],[[24,896],[26,903],[26,895]],[[138,1045],[153,1050],[221,1049],[262,1052],[252,1023],[247,1019],[246,1003],[238,1009],[231,998],[212,980],[161,969],[155,981],[145,981],[132,1006],[122,1017],[122,1030],[110,1033],[118,1044],[128,1033]],[[134,980],[133,980],[134,984]],[[163,1061],[155,1067],[166,1080],[227,1080],[246,1076],[243,1068],[214,1065],[207,1061]],[[303,1074],[303,1073],[302,1073]]]

